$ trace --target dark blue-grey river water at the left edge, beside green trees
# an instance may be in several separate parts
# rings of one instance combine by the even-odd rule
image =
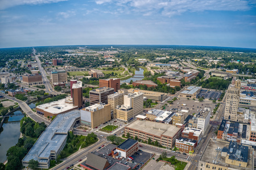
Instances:
[[[15,111],[14,114],[22,114],[20,110]],[[6,161],[6,152],[10,147],[18,143],[20,136],[20,120],[24,116],[13,116],[9,117],[7,123],[4,123],[2,128],[3,131],[0,133],[0,162]]]

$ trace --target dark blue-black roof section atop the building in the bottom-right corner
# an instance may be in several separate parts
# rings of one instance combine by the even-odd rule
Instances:
[[[229,143],[229,159],[237,160],[240,162],[248,162],[248,146],[238,145],[237,142]]]

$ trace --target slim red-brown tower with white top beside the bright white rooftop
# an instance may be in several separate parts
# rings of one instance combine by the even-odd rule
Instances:
[[[77,81],[76,83],[72,84],[72,98],[73,98],[73,105],[77,105],[79,108],[82,107],[82,82]]]

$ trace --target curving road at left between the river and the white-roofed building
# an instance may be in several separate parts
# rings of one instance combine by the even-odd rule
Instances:
[[[44,122],[46,125],[49,125],[51,123],[50,121],[47,121],[46,118],[41,117],[38,114],[34,113],[32,109],[24,101],[16,99],[15,97],[5,95],[5,94],[1,94],[1,95],[4,96],[6,99],[10,99],[18,103],[20,109],[22,109],[22,111],[26,113],[28,117],[32,118],[32,120],[34,120],[35,122],[39,122],[39,123]]]

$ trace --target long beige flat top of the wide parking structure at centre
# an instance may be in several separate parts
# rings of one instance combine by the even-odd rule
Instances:
[[[139,120],[134,121],[132,124],[126,126],[126,128],[144,131],[144,133],[156,135],[158,137],[161,137],[161,135],[174,137],[174,135],[180,130],[180,128],[177,128],[175,125]]]

